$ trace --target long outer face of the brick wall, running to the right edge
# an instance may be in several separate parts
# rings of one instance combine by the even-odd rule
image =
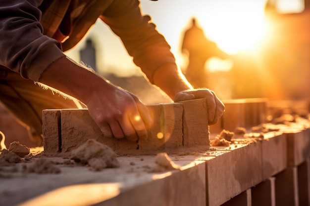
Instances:
[[[195,166],[162,175],[162,179],[124,191],[102,205],[309,205],[309,140],[310,130],[305,129],[272,132],[267,139],[237,144],[229,150],[217,147],[213,155],[197,157]],[[182,160],[193,161],[193,157],[184,156]],[[150,189],[152,192],[146,192]],[[143,199],[130,198],[139,197],[142,191]],[[160,198],[153,200],[153,196]]]

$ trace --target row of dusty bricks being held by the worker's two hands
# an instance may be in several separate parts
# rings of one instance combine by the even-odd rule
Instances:
[[[104,137],[87,109],[44,110],[44,154],[70,152],[87,139],[96,139],[121,155],[209,149],[206,99],[147,107],[154,124],[148,128],[147,139],[138,142]]]

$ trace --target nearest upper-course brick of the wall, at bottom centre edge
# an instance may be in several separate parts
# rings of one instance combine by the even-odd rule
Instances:
[[[205,163],[169,173],[154,174],[152,181],[123,189],[100,206],[206,206]]]

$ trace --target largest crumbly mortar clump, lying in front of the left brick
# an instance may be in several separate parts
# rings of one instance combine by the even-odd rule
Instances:
[[[83,145],[72,150],[71,159],[76,163],[89,165],[95,171],[106,167],[119,167],[114,151],[95,139],[88,139]]]

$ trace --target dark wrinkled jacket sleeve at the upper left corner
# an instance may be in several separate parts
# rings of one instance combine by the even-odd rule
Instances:
[[[42,1],[0,0],[0,65],[34,81],[64,56],[60,43],[43,35],[38,9]]]

